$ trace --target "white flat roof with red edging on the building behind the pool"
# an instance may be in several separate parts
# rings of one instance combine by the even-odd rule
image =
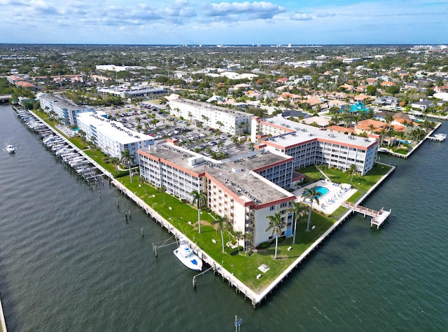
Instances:
[[[319,130],[319,128],[311,125],[304,125],[278,116],[264,118],[261,121],[285,128],[285,134],[263,139],[266,142],[274,142],[274,144],[283,146],[284,148],[302,144],[312,139],[335,141],[336,144],[358,146],[363,149],[367,149],[377,143],[376,139],[327,132],[326,130]]]

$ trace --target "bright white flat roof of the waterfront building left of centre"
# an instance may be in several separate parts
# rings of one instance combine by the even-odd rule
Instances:
[[[109,120],[95,113],[80,113],[78,119],[97,128],[106,137],[118,141],[120,144],[130,144],[137,141],[148,141],[154,138],[134,130],[127,129],[121,123]]]

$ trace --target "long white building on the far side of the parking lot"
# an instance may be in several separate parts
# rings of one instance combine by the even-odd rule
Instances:
[[[238,135],[250,132],[252,114],[181,97],[169,98],[170,113],[173,116],[202,122],[228,134]]]

